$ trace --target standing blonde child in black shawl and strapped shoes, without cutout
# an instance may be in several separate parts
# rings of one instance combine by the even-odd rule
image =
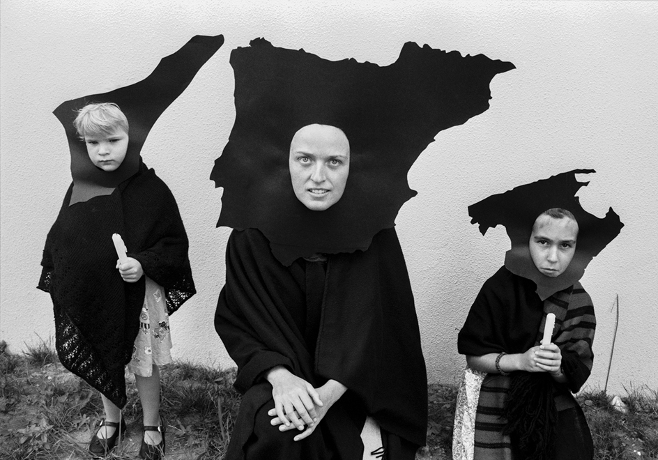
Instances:
[[[125,435],[128,365],[144,414],[139,456],[160,459],[159,366],[171,361],[169,314],[195,293],[188,238],[174,196],[131,144],[121,109],[89,104],[74,124],[87,155],[72,148],[74,183],[48,233],[38,287],[53,301],[62,364],[101,393],[105,418],[91,454],[107,454]],[[128,250],[123,263],[114,233]]]

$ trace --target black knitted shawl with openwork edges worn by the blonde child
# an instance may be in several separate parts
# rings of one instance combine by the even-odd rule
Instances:
[[[112,233],[164,288],[170,314],[196,292],[188,237],[174,196],[144,163],[112,194],[69,206],[71,192],[72,185],[48,233],[38,287],[52,298],[62,364],[123,407],[123,372],[139,329],[144,277],[123,282]]]

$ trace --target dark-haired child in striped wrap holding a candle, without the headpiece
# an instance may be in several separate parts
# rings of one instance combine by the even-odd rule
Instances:
[[[562,275],[578,222],[561,208],[537,217],[529,252],[544,277]],[[592,438],[572,396],[592,369],[595,316],[579,282],[544,301],[535,282],[502,267],[484,283],[459,332],[468,367],[459,390],[454,459],[592,459]],[[546,315],[550,344],[540,344]]]

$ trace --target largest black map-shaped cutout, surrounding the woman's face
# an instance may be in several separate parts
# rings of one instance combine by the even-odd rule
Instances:
[[[252,40],[231,52],[236,121],[211,179],[224,187],[217,227],[256,228],[284,265],[315,252],[366,250],[415,196],[407,173],[441,130],[489,108],[489,83],[514,68],[406,43],[390,66],[327,61]],[[305,125],[342,129],[351,148],[342,199],[321,212],[293,194],[290,141]]]

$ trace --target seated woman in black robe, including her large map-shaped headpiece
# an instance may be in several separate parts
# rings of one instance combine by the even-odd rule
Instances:
[[[211,174],[235,229],[215,316],[244,394],[227,458],[411,460],[427,376],[393,229],[406,174],[514,66],[407,43],[381,68],[263,39],[231,65],[236,123]]]

